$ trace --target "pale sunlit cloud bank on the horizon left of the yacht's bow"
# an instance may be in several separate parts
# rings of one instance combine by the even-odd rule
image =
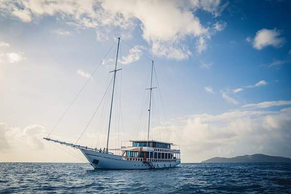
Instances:
[[[22,129],[0,123],[0,162],[84,162],[65,152],[65,146],[45,141],[46,136],[40,125]],[[69,151],[76,152],[73,148]]]

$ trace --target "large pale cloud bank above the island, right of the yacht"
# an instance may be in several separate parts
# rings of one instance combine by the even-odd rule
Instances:
[[[180,145],[183,162],[255,153],[291,157],[291,108],[195,114],[173,123],[170,139]]]

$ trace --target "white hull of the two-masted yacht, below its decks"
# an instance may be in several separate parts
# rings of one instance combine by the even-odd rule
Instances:
[[[91,151],[81,149],[81,152],[91,163],[91,165],[98,169],[150,169],[150,168],[171,168],[180,163],[177,159],[176,162],[142,162],[142,161],[126,161],[122,160],[122,156],[102,153],[98,151]]]

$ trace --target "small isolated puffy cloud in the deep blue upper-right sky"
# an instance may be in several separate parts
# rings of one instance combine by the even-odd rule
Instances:
[[[261,29],[256,33],[253,41],[253,47],[255,49],[263,49],[267,46],[273,46],[279,48],[285,43],[285,38],[281,37],[281,32],[274,29]]]

